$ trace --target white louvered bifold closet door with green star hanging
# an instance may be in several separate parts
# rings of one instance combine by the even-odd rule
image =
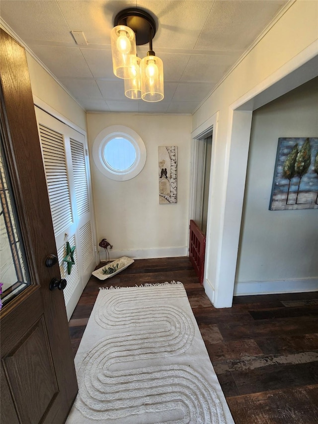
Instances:
[[[56,247],[68,319],[96,266],[89,164],[85,137],[35,107],[50,199]],[[67,273],[66,242],[75,249],[75,265]]]

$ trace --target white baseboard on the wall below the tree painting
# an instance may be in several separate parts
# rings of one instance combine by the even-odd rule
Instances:
[[[318,278],[278,281],[245,281],[234,285],[234,296],[300,293],[318,290]]]

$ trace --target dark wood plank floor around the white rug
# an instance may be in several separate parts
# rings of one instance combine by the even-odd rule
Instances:
[[[172,280],[185,286],[236,424],[318,423],[318,292],[239,296],[215,309],[187,257],[138,259],[107,283],[90,278],[69,323],[74,355],[99,287]]]

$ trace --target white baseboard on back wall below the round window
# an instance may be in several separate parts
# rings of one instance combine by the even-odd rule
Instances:
[[[188,248],[177,247],[177,248],[155,248],[155,249],[129,249],[129,250],[108,250],[109,259],[115,260],[121,256],[128,256],[133,259],[149,259],[152,257],[177,257],[177,256],[187,256]],[[106,260],[106,254],[104,249],[99,251],[99,259],[101,261]],[[108,260],[108,257],[107,257]]]

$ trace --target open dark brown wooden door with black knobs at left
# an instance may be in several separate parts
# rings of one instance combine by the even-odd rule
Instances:
[[[76,373],[63,292],[49,288],[61,274],[25,51],[0,31],[1,160],[7,171],[1,199],[11,196],[16,237],[8,237],[22,264],[10,296],[1,294],[0,422],[59,424],[76,397]],[[5,202],[3,208],[8,218]]]

